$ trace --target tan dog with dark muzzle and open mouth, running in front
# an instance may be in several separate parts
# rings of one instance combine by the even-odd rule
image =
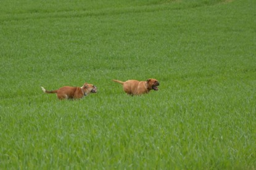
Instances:
[[[158,90],[159,82],[156,79],[148,79],[147,81],[138,80],[127,80],[122,82],[120,80],[112,80],[114,82],[120,83],[123,85],[123,90],[128,95],[142,95],[144,93],[149,93],[151,90]]]

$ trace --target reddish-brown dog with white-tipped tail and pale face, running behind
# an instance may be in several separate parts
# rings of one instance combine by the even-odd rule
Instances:
[[[41,87],[41,89],[44,93],[57,93],[59,99],[80,99],[89,95],[89,93],[97,92],[96,86],[88,83],[85,83],[82,87],[65,86],[52,91],[45,90],[43,87]]]

